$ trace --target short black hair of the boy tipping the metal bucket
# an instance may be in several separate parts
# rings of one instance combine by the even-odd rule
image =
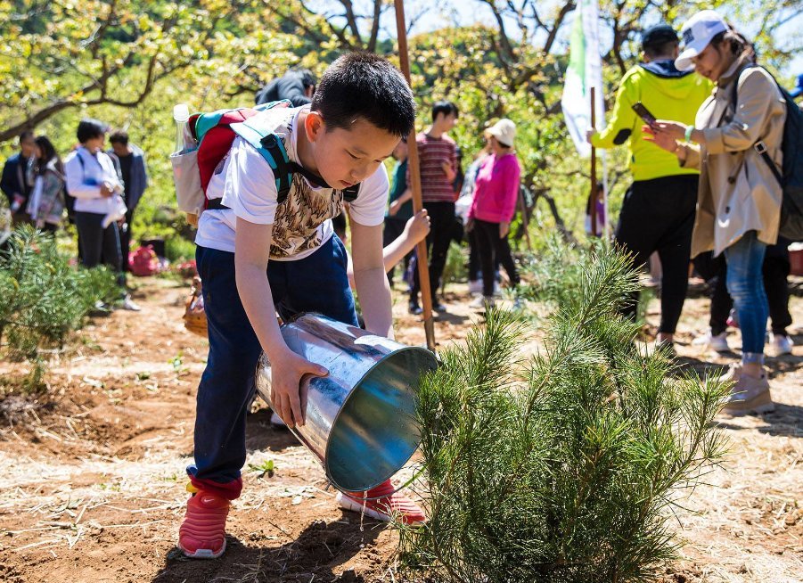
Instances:
[[[333,62],[315,88],[312,109],[327,131],[349,129],[363,118],[401,137],[415,125],[413,91],[396,67],[373,53],[348,53]]]

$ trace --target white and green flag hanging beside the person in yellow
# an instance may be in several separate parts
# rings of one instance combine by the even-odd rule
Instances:
[[[586,142],[586,129],[591,127],[591,87],[596,91],[596,127],[605,127],[599,23],[598,0],[578,0],[561,107],[569,135],[584,158],[591,155],[591,145]]]

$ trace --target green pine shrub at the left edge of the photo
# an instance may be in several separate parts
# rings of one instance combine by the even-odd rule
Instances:
[[[96,302],[118,296],[114,274],[105,267],[70,267],[52,236],[18,228],[0,257],[0,341],[6,356],[39,363],[42,351],[61,346]]]

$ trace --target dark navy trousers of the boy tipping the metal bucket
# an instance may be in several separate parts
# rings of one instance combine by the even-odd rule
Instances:
[[[245,420],[254,396],[254,373],[262,348],[242,308],[234,279],[234,253],[198,247],[209,357],[198,386],[193,486],[218,496],[240,495],[245,464]],[[283,320],[317,312],[357,325],[346,275],[346,248],[337,237],[297,261],[271,261],[267,268],[274,305]]]

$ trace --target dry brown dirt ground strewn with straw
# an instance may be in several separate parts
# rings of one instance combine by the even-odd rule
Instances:
[[[207,342],[184,330],[186,284],[137,283],[143,311],[95,318],[53,363],[44,395],[10,390],[25,367],[0,363],[0,581],[400,581],[395,533],[340,510],[313,456],[265,409],[250,415],[245,487],[224,557],[176,552]],[[454,308],[436,323],[441,346],[478,319],[465,286],[451,290]],[[399,340],[423,343],[404,295],[396,300]],[[803,300],[791,306],[801,346],[768,360],[776,411],[721,418],[732,454],[678,513],[686,545],[666,581],[803,580]],[[689,300],[678,334],[682,362],[701,371],[737,357],[692,346],[707,309],[707,300]],[[738,346],[738,333],[730,340]],[[258,469],[268,460],[272,476]]]

